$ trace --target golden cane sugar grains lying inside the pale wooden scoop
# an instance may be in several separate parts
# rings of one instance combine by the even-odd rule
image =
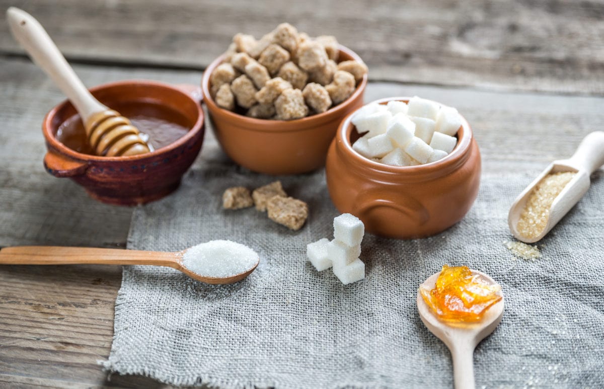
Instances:
[[[574,172],[550,173],[533,188],[516,223],[518,233],[532,239],[545,230],[551,204],[576,175]]]

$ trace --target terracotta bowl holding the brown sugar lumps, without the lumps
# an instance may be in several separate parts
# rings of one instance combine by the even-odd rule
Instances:
[[[340,46],[339,60],[351,59],[361,61],[353,51]],[[363,105],[367,76],[352,96],[323,114],[290,121],[239,115],[217,106],[210,95],[210,74],[220,62],[222,57],[214,60],[204,72],[204,101],[224,152],[254,172],[288,175],[324,166],[327,149],[342,118]]]

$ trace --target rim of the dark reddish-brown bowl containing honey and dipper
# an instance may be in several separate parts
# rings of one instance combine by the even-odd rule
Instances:
[[[184,95],[192,103],[195,104],[198,110],[197,121],[191,126],[188,132],[182,137],[178,138],[178,140],[173,143],[168,144],[167,146],[160,147],[159,149],[153,150],[149,153],[138,154],[138,155],[129,155],[129,156],[98,156],[92,154],[85,154],[77,152],[76,150],[69,149],[69,147],[65,146],[61,143],[51,131],[53,127],[53,118],[57,115],[61,109],[64,109],[66,106],[71,105],[71,101],[68,99],[61,101],[59,104],[53,107],[48,113],[44,116],[42,121],[42,133],[44,135],[45,140],[48,145],[53,149],[57,150],[59,153],[63,155],[67,155],[72,159],[77,159],[79,161],[97,161],[97,162],[117,162],[117,161],[137,161],[139,159],[150,158],[154,155],[162,154],[165,152],[170,152],[182,145],[186,144],[192,138],[196,137],[196,135],[204,128],[204,110],[201,108],[201,104],[199,101],[196,101],[193,96],[178,88],[176,85],[170,85],[168,83],[153,81],[153,80],[145,80],[145,79],[132,79],[132,80],[120,80],[115,82],[103,83],[94,88],[88,89],[93,95],[95,92],[100,91],[102,89],[107,88],[116,88],[116,87],[125,87],[125,86],[133,86],[133,85],[144,85],[144,86],[153,86],[155,88],[164,88],[170,89],[173,92],[177,92],[179,94]],[[74,107],[75,108],[75,107]],[[77,110],[76,110],[77,112]]]

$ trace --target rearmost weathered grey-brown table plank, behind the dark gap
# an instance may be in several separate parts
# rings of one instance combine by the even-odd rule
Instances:
[[[9,5],[90,63],[203,69],[235,33],[289,21],[338,37],[374,81],[604,93],[604,0],[0,0]],[[4,18],[0,52],[23,53]]]

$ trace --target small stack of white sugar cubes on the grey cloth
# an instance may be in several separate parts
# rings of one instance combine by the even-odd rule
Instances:
[[[333,219],[333,240],[323,238],[306,245],[306,255],[317,271],[333,266],[333,274],[344,285],[365,278],[365,264],[359,259],[365,225],[358,217],[344,213]]]

